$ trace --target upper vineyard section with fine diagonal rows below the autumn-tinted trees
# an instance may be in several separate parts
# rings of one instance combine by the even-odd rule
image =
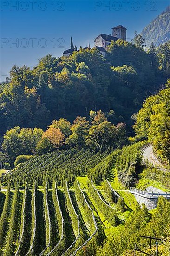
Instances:
[[[101,162],[111,151],[112,148],[105,151],[72,149],[37,156],[3,175],[3,182],[7,181],[11,185],[17,182],[20,186],[25,182],[33,184],[35,180],[41,185],[46,179],[52,183],[54,178],[58,185],[64,184],[65,180],[72,182],[75,176],[86,175],[88,169]]]

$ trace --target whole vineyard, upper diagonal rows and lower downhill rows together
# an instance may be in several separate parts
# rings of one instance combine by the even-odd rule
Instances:
[[[83,184],[75,177],[87,175],[111,151],[68,150],[35,156],[3,175],[0,255],[88,255],[93,245],[95,254],[96,245],[105,239],[98,211],[106,218],[113,214],[109,219],[112,226],[120,220],[116,206],[105,202],[92,181],[87,184],[85,177],[87,187],[82,190]]]

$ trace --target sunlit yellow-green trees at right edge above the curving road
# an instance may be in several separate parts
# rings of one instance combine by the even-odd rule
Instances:
[[[134,128],[137,137],[148,139],[158,157],[170,163],[170,79],[164,90],[144,102]]]

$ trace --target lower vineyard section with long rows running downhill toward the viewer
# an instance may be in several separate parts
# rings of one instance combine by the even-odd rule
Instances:
[[[104,194],[112,195],[114,202],[113,189],[105,183]],[[105,218],[111,214],[108,223],[113,227],[121,220],[116,203],[113,207],[106,202],[92,181],[88,180],[89,189],[82,190],[81,186],[76,179],[71,189],[68,182],[58,189],[54,180],[51,186],[44,182],[41,189],[37,182],[32,187],[26,182],[24,190],[17,185],[15,190],[8,186],[1,191],[0,255],[89,255],[93,244],[99,246],[105,238],[99,214]],[[95,247],[93,250],[95,253]]]

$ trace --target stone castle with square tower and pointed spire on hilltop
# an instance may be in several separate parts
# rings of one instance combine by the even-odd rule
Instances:
[[[126,41],[126,30],[127,28],[123,27],[122,25],[119,25],[117,27],[112,28],[112,36],[111,34],[99,34],[94,40],[94,48],[98,49],[100,54],[102,54],[105,57],[107,54],[106,47],[111,44],[111,41],[117,41],[118,39],[123,39],[124,41]],[[84,49],[91,49],[90,45],[89,47],[85,47]],[[71,47],[70,49],[64,51],[63,56],[69,57],[70,55],[72,55],[74,51],[77,51],[77,47],[73,46],[71,37]]]

